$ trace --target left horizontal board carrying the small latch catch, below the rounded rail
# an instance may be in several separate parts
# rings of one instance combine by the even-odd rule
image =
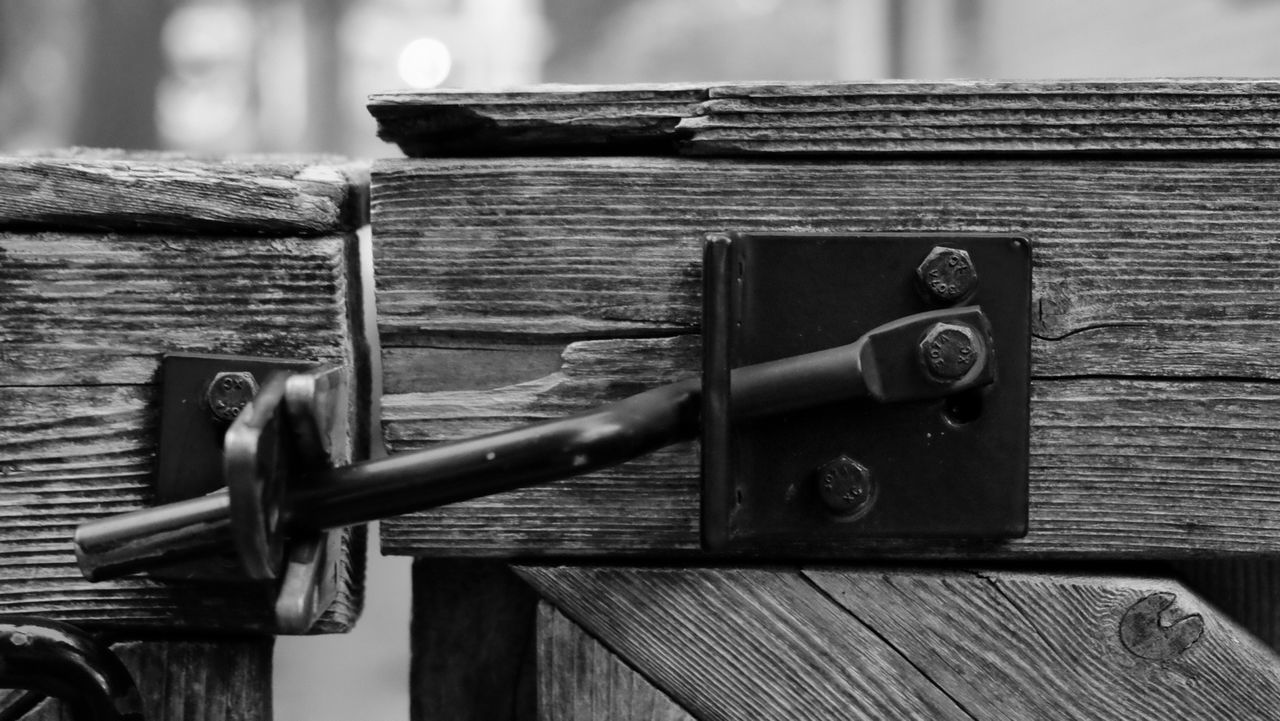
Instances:
[[[0,233],[0,611],[264,628],[264,589],[90,584],[70,538],[84,520],[150,505],[163,353],[365,362],[348,307],[355,243],[352,234]],[[346,544],[323,630],[349,628],[360,612],[362,531]]]

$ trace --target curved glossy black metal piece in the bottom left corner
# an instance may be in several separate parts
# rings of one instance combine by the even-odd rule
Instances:
[[[76,721],[142,721],[133,676],[101,642],[68,624],[0,616],[0,688],[27,689],[0,708],[14,721],[46,698],[61,699]]]

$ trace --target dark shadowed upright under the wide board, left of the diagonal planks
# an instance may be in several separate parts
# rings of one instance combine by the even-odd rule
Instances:
[[[506,563],[415,561],[410,718],[532,721],[536,615]]]

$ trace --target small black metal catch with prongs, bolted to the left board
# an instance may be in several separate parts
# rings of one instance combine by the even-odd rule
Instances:
[[[269,383],[276,378],[274,385]],[[256,517],[261,515],[262,488],[255,484],[262,484],[260,464],[288,462],[288,467],[268,475],[291,475],[296,483],[316,480],[320,476],[312,471],[335,465],[333,448],[347,434],[343,385],[340,369],[306,361],[165,356],[156,502],[160,507],[187,502],[186,507],[196,512],[189,517],[192,523],[182,526],[159,524],[145,529],[165,538],[163,547],[151,548],[156,556],[146,561],[148,572],[170,580],[219,583],[261,583],[279,572],[283,580],[273,630],[298,634],[310,629],[337,593],[340,537],[316,531],[296,535],[288,548],[279,538],[271,549],[260,548],[265,530],[256,535],[250,530],[265,523]],[[262,388],[271,391],[265,393]],[[241,424],[229,433],[251,400],[257,401],[255,417],[264,425]],[[280,415],[275,409],[282,406],[288,423],[275,417]],[[228,493],[228,488],[236,492]],[[196,560],[183,562],[187,558]],[[244,558],[257,562],[247,566]],[[271,570],[264,570],[264,563]]]

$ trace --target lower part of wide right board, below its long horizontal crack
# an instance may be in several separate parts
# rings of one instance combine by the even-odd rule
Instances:
[[[393,451],[556,417],[695,377],[690,337],[571,344],[561,373],[384,397]],[[1030,531],[996,544],[868,539],[847,556],[1210,556],[1280,551],[1274,383],[1061,379],[1032,388]],[[856,450],[850,450],[856,456]],[[699,553],[692,443],[381,524],[388,553]]]

